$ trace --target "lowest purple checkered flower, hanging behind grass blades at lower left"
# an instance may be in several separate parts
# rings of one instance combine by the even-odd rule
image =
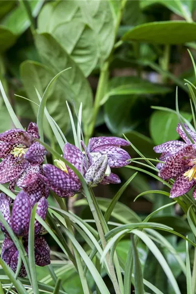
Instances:
[[[31,216],[31,202],[29,197],[24,191],[21,191],[13,202],[12,214],[10,213],[9,202],[5,194],[0,194],[0,211],[12,228],[13,232],[23,237],[23,244],[26,252],[28,253],[28,231],[29,222]],[[48,209],[48,202],[45,197],[42,197],[37,203],[36,213],[45,220]],[[5,239],[2,244],[1,258],[10,266],[13,271],[16,271],[19,252],[10,239],[9,234],[5,230],[4,226],[0,224],[1,230],[5,234]],[[45,266],[49,264],[49,246],[45,239],[40,236],[41,224],[35,221],[35,262],[38,266]],[[24,265],[22,265],[20,276],[25,276],[26,271]]]

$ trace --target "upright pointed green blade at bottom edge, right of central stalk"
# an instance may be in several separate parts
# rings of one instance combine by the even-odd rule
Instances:
[[[142,268],[133,234],[131,234],[131,242],[133,248],[133,272],[135,277],[135,294],[144,294]]]

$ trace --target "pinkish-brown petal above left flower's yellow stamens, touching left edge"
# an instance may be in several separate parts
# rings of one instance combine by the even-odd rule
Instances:
[[[8,142],[11,144],[22,144],[30,146],[32,138],[28,132],[22,129],[11,129],[0,134],[0,141]]]

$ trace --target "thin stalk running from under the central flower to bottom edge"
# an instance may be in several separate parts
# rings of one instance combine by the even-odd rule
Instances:
[[[107,224],[105,224],[105,221],[104,222],[102,221],[102,219],[104,219],[103,215],[102,215],[103,218],[99,217],[101,212],[98,209],[97,201],[96,201],[96,198],[95,198],[95,195],[94,195],[92,189],[90,189],[90,195],[91,195],[91,199],[88,197],[87,201],[89,203],[89,207],[90,207],[91,212],[93,214],[93,218],[94,218],[94,220],[96,222],[97,229],[98,229],[98,234],[99,234],[99,237],[100,237],[100,240],[101,240],[102,247],[104,249],[105,246],[106,246],[104,229],[107,230]],[[115,292],[116,292],[116,294],[122,294],[122,292],[120,290],[120,287],[119,287],[117,277],[116,277],[113,262],[110,260],[109,252],[106,255],[106,260],[107,260],[107,263],[108,263],[108,267],[109,267],[109,271],[110,271],[110,277],[111,277],[111,281],[113,282]]]

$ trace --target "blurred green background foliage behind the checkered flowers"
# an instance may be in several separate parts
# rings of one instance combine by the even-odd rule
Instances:
[[[50,115],[68,141],[73,138],[66,100],[73,106],[73,114],[74,106],[78,110],[82,102],[86,139],[124,133],[145,156],[156,158],[153,146],[179,138],[175,132],[176,85],[181,114],[192,121],[184,79],[196,85],[187,50],[196,57],[196,0],[28,0],[34,25],[25,10],[26,1],[0,1],[0,79],[23,125],[36,121],[38,107],[22,97],[39,103],[35,87],[42,95],[55,74],[71,67],[52,85],[47,100]],[[12,126],[1,98],[0,132]],[[55,146],[47,121],[45,136]],[[127,150],[138,157],[131,147]],[[135,163],[132,166],[140,167]],[[123,168],[120,172],[124,182],[135,171]],[[135,217],[133,211],[143,218],[152,209],[169,203],[168,197],[153,193],[133,202],[138,194],[158,189],[167,188],[149,175],[138,173],[121,197],[127,206],[118,203],[113,219],[127,223]],[[95,189],[97,196],[105,198],[112,198],[117,190],[116,186]],[[104,211],[108,200],[98,199]],[[70,204],[71,208],[83,218],[91,218],[85,203],[78,201],[74,207]],[[190,228],[180,219],[180,213],[178,206],[171,206],[153,221],[172,224],[177,232],[188,234]],[[184,243],[169,238],[185,259]],[[118,245],[122,265],[129,245],[130,240]],[[165,289],[167,277],[147,247],[141,244],[138,250],[143,270],[147,268],[144,278],[159,285],[164,294],[172,294],[170,284]],[[161,250],[185,293],[184,277],[176,260],[171,252]],[[69,267],[63,281],[66,291],[79,294],[79,278],[74,273],[73,283],[73,267]],[[42,275],[40,270],[40,279]]]

